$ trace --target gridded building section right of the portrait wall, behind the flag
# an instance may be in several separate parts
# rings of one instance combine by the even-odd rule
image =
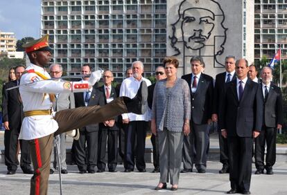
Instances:
[[[271,59],[281,45],[287,59],[287,0],[255,0],[254,60]]]

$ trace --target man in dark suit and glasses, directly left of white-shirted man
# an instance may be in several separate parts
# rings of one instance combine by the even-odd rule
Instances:
[[[103,73],[104,85],[98,88],[98,93],[101,93],[105,99],[105,104],[116,99],[116,89],[112,86],[114,76],[111,71]],[[116,172],[118,162],[118,131],[117,117],[99,124],[98,133],[98,171],[105,171],[105,149],[107,146],[107,167],[110,172]]]

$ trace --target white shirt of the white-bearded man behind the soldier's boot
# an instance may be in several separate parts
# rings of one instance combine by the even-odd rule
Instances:
[[[145,81],[147,86],[151,85],[150,80],[147,80],[144,77],[141,77],[141,80],[136,80],[134,77],[128,77],[125,80],[123,80],[123,83],[121,84],[119,96],[133,98],[135,95],[137,95],[137,90],[139,89],[139,85],[141,84],[141,81]],[[134,113],[124,113],[122,114],[123,119],[129,119],[130,121],[150,120],[150,108],[148,108],[148,104],[146,104],[146,106],[147,106],[147,109],[144,114],[138,115]]]

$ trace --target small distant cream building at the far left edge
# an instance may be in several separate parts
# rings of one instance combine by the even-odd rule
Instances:
[[[16,41],[14,32],[0,31],[0,53],[15,52]]]

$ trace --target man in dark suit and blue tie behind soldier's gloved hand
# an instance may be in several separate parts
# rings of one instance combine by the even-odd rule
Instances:
[[[91,73],[91,68],[89,65],[84,64],[82,66],[82,75],[88,75]],[[83,80],[89,80],[89,77],[84,77]],[[95,106],[105,104],[103,95],[96,93],[96,89],[92,87],[89,91],[85,93],[75,93],[75,106]],[[90,124],[86,127],[80,129],[80,138],[79,140],[74,140],[75,145],[75,157],[76,164],[80,174],[85,174],[87,171],[89,174],[94,174],[97,163],[98,156],[98,124]],[[87,148],[85,147],[87,142]],[[87,150],[87,151],[86,151]],[[87,152],[87,162],[86,160]]]

